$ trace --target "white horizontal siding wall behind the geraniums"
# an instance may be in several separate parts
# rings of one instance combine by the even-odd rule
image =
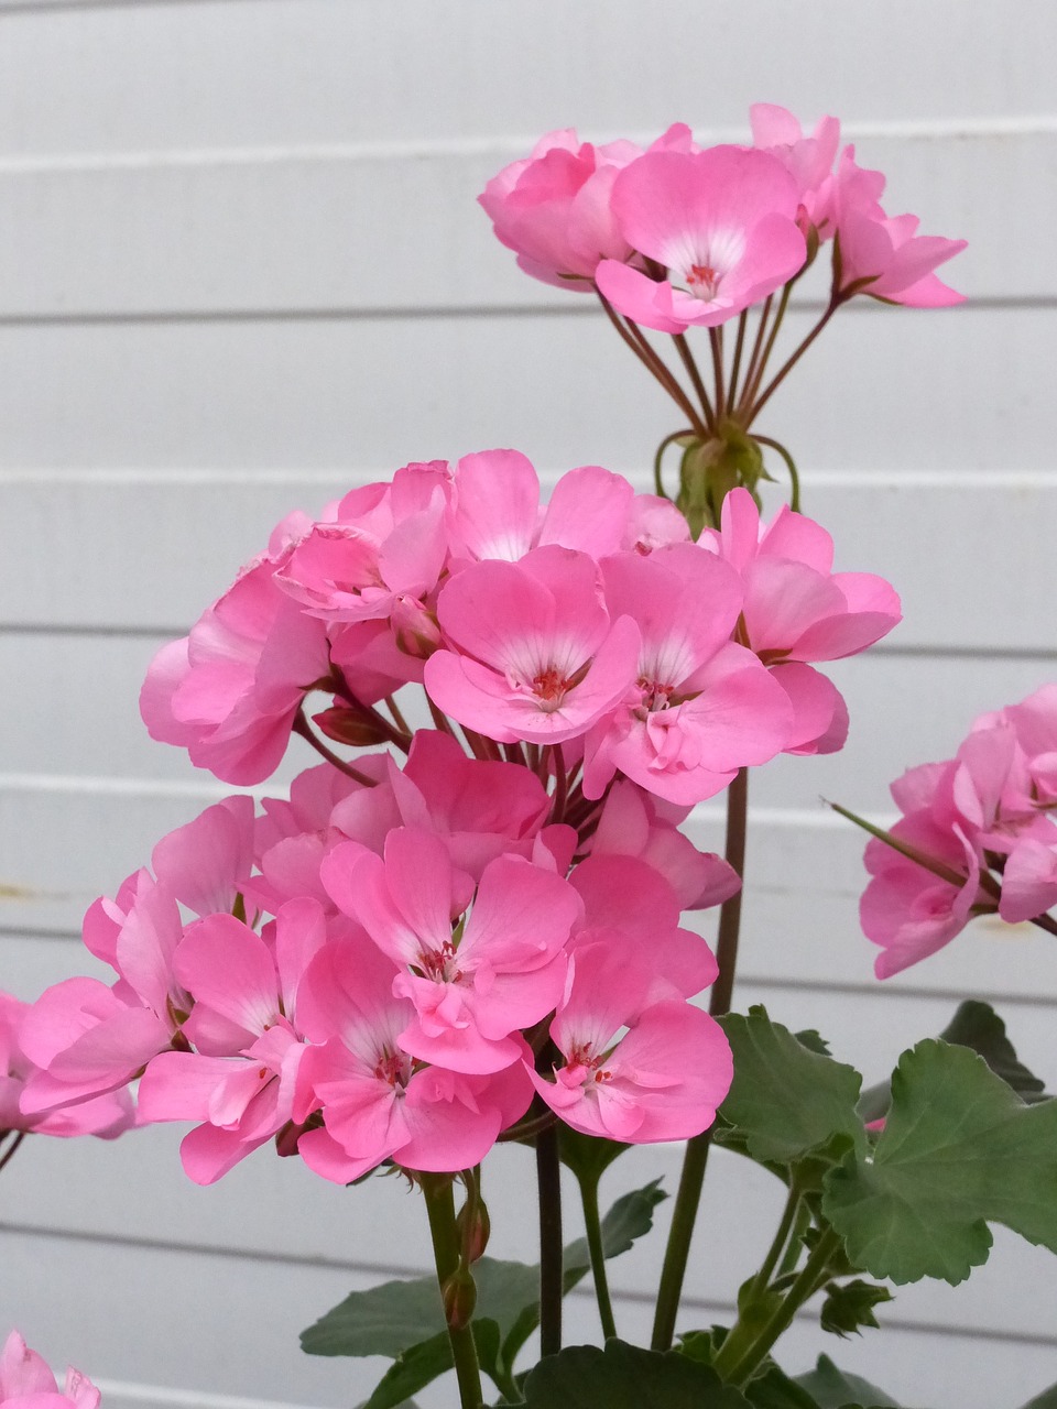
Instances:
[[[967,235],[971,303],[843,314],[768,410],[841,565],[889,575],[906,623],[834,668],[844,754],[754,781],[738,999],[879,1075],[995,993],[1057,1081],[1053,940],[978,924],[877,985],[861,844],[817,805],[884,813],[902,768],[1053,675],[1056,48],[1044,0],[0,0],[0,986],[83,971],[85,906],[223,793],[149,744],[138,683],[289,507],[507,444],[548,478],[645,483],[667,406],[586,300],[517,273],[474,197],[547,128],[741,134],[765,99],[841,116],[894,210]],[[702,809],[713,844],[719,821]],[[414,1198],[266,1154],[202,1191],[176,1143],[27,1146],[0,1181],[0,1333],[111,1403],[362,1398],[381,1367],[307,1360],[296,1332],[421,1265]],[[634,1160],[613,1193],[674,1184],[674,1155]],[[497,1165],[493,1250],[531,1258],[527,1161]],[[706,1198],[684,1324],[726,1313],[775,1213],[722,1154]],[[655,1262],[614,1265],[627,1333]],[[1056,1313],[1053,1258],[998,1230],[956,1293],[902,1292],[854,1346],[798,1324],[785,1360],[824,1348],[912,1403],[1013,1409],[1057,1378]],[[592,1317],[574,1301],[574,1334]]]

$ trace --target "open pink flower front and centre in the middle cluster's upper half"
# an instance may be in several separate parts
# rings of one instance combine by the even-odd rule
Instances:
[[[444,588],[438,616],[448,650],[426,662],[426,689],[499,743],[585,734],[634,679],[636,624],[610,621],[582,552],[545,547],[517,564],[474,564]]]

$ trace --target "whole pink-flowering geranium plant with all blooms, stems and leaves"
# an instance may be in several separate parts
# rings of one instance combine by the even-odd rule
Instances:
[[[963,247],[888,216],[834,118],[810,135],[782,108],[751,120],[753,145],[707,149],[682,125],[644,151],[551,132],[481,196],[521,268],[600,300],[678,407],[654,492],[586,465],[541,504],[528,459],[486,449],[290,514],[156,655],[141,709],[235,786],[295,734],[319,762],[289,797],[209,807],[92,906],[85,943],[113,985],[0,1005],[0,1167],[27,1131],[173,1120],[193,1126],[180,1155],[203,1185],[272,1146],[323,1179],[399,1171],[421,1191],[435,1277],[357,1292],[303,1336],[310,1354],[392,1358],[368,1409],[452,1368],[464,1409],[888,1405],[826,1357],[779,1368],[802,1306],[837,1334],[875,1326],[892,1284],[985,1261],[989,1222],[1057,1251],[1057,1103],[989,1007],[964,1005],[865,1093],[816,1033],[733,1007],[750,769],[839,750],[847,709],[820,666],[901,619],[888,582],[834,571],[758,421],[850,300],[957,303],[934,271]],[[822,313],[788,347],[809,271]],[[777,466],[789,502],[764,516]],[[719,795],[724,857],[681,830]],[[978,720],[894,796],[891,831],[840,807],[874,833],[879,978],[975,914],[1057,933],[1057,686]],[[717,919],[688,929],[685,912]],[[486,1255],[497,1141],[536,1162],[538,1267]],[[599,1184],[657,1141],[685,1158],[636,1347],[606,1261],[665,1195],[633,1188],[603,1217]],[[713,1144],[786,1198],[730,1289],[733,1324],[691,1327]],[[582,1203],[569,1246],[562,1164]],[[562,1296],[588,1274],[605,1346],[564,1347]],[[37,1365],[10,1340],[0,1391],[28,1406],[49,1372],[13,1370],[20,1354]],[[42,1392],[58,1406],[54,1381]]]

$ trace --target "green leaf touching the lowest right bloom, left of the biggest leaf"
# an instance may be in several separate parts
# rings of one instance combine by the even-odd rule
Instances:
[[[750,1007],[747,1017],[727,1013],[720,1026],[734,1054],[734,1082],[720,1115],[754,1160],[789,1165],[834,1136],[843,1138],[833,1155],[843,1157],[848,1146],[865,1150],[857,1071],[810,1051],[764,1007]],[[720,1138],[727,1143],[729,1136]]]

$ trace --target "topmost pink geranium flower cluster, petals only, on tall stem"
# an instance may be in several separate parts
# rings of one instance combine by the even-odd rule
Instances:
[[[750,110],[753,145],[702,149],[684,124],[645,149],[548,132],[479,197],[527,273],[598,289],[660,333],[717,327],[781,289],[834,241],[833,294],[913,307],[961,302],[933,272],[961,240],[917,235],[885,213],[885,178],[840,149],[840,124],[810,135],[782,107]]]

